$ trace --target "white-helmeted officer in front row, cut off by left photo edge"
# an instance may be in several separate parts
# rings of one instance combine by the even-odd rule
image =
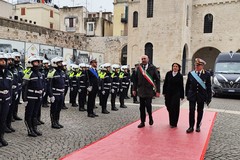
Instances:
[[[6,66],[7,55],[0,52],[0,147],[8,145],[4,132],[12,94],[13,75]]]

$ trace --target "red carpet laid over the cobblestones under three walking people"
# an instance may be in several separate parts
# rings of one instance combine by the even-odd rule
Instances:
[[[188,110],[182,109],[177,128],[168,125],[168,112],[153,113],[154,125],[139,129],[132,123],[79,149],[62,160],[198,160],[204,159],[215,112],[204,112],[201,132],[186,134]]]

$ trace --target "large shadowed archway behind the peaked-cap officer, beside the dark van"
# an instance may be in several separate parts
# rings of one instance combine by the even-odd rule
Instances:
[[[204,47],[199,49],[192,57],[192,64],[194,65],[195,58],[201,58],[207,62],[205,69],[209,70],[214,68],[214,63],[221,51],[214,47]],[[192,67],[194,68],[194,66]]]

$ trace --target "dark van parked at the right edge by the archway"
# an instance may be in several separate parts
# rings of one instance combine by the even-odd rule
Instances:
[[[212,90],[217,95],[240,95],[240,53],[220,53],[215,61]]]

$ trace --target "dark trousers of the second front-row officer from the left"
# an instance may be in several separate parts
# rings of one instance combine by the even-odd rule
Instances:
[[[24,120],[29,128],[32,128],[37,119],[39,109],[41,107],[42,99],[28,99],[27,106],[25,108]]]

